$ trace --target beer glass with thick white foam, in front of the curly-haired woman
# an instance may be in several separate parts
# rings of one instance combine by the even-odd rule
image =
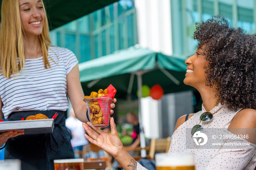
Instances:
[[[155,154],[156,170],[195,170],[193,154]]]

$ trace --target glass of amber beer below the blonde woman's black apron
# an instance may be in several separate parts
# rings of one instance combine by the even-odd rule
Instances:
[[[56,159],[54,162],[54,170],[84,170],[84,159]]]

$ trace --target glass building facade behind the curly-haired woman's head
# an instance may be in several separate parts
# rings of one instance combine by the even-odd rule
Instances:
[[[234,27],[255,34],[255,0],[171,0],[173,53],[189,56],[196,50],[195,23],[222,15]],[[175,42],[175,43],[174,43]]]

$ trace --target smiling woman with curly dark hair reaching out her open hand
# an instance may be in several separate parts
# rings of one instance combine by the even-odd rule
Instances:
[[[185,61],[184,83],[199,91],[202,111],[177,120],[168,153],[193,153],[198,170],[254,170],[256,37],[230,27],[221,16],[213,16],[196,23],[193,38],[198,46]],[[113,119],[110,126],[112,133],[108,134],[83,123],[86,138],[113,155],[125,170],[145,169],[124,149]],[[213,142],[221,144],[214,146]]]

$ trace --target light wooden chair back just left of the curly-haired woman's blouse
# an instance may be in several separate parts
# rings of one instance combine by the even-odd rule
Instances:
[[[151,159],[154,159],[155,152],[168,152],[171,144],[171,137],[160,138],[160,139],[151,139],[149,156]]]

